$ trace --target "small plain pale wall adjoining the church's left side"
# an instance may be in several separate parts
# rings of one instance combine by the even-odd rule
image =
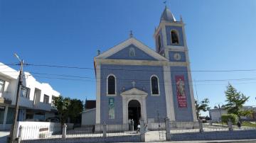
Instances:
[[[82,112],[82,125],[95,125],[96,123],[96,108],[85,110]]]

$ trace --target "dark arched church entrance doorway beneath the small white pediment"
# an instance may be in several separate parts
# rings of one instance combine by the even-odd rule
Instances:
[[[128,119],[134,120],[134,129],[137,130],[141,118],[141,105],[139,101],[132,100],[128,103]]]

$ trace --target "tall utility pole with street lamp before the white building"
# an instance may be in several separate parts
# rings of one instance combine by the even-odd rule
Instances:
[[[15,57],[17,57],[18,61],[20,62],[19,65],[21,66],[21,69],[19,71],[19,75],[18,75],[18,86],[17,86],[17,93],[16,93],[16,105],[15,105],[15,113],[14,113],[14,124],[11,126],[11,133],[10,133],[10,142],[13,143],[16,139],[16,129],[17,129],[17,119],[18,119],[18,103],[19,103],[19,92],[20,92],[20,86],[22,84],[21,81],[21,76],[23,73],[23,64],[24,61],[23,59],[21,60],[18,55],[14,54]]]

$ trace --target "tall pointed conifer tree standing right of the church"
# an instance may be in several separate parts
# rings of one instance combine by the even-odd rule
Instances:
[[[229,114],[238,115],[240,117],[247,115],[248,112],[242,110],[242,105],[250,98],[246,97],[243,93],[238,92],[231,84],[228,84],[227,91],[225,91],[226,102],[225,109],[228,110]]]

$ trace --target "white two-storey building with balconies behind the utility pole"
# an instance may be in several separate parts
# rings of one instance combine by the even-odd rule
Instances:
[[[19,71],[0,62],[0,130],[9,130],[14,122],[14,109]],[[18,121],[55,117],[54,97],[60,96],[49,84],[40,83],[28,72],[22,76]]]

